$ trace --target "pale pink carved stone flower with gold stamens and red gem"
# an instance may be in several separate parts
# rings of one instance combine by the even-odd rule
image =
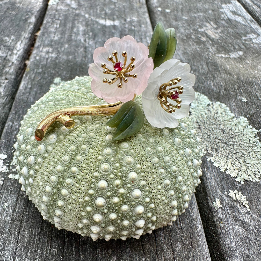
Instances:
[[[108,103],[128,102],[147,87],[153,71],[149,49],[130,35],[110,38],[94,50],[89,67],[92,92]]]

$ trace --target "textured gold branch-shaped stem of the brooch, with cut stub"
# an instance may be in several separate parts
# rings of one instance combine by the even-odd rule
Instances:
[[[89,106],[75,106],[58,111],[54,111],[46,116],[37,126],[34,137],[36,140],[41,141],[48,128],[55,122],[60,121],[66,128],[74,126],[74,120],[71,116],[79,115],[114,115],[122,106],[122,102],[89,105]]]

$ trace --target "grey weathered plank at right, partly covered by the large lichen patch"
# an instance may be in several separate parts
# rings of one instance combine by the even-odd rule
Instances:
[[[261,127],[261,30],[236,1],[147,1],[152,25],[158,20],[175,27],[175,58],[191,65],[195,90],[245,116]],[[249,102],[243,102],[245,97]],[[224,143],[227,142],[224,140]],[[203,160],[203,176],[196,189],[207,243],[213,260],[261,260],[260,183],[237,183]],[[246,195],[250,213],[228,196],[229,189]],[[226,194],[226,193],[227,194]],[[223,207],[215,210],[215,198]]]

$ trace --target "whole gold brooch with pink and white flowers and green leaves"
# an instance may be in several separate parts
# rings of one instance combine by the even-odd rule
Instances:
[[[187,63],[172,59],[176,50],[174,28],[164,30],[159,22],[148,47],[130,35],[110,38],[94,51],[89,67],[91,90],[108,104],[75,106],[46,116],[35,131],[35,139],[44,138],[55,121],[66,128],[74,127],[75,115],[114,115],[108,122],[116,128],[113,140],[137,133],[144,124],[135,96],[142,93],[142,106],[147,121],[157,128],[175,128],[177,119],[188,115],[194,100],[195,75]],[[154,70],[153,70],[154,69]]]

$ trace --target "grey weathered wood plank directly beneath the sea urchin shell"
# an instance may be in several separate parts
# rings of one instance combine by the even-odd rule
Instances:
[[[1,152],[11,159],[22,116],[48,91],[55,77],[69,80],[86,75],[94,49],[110,37],[127,33],[149,43],[152,27],[145,1],[96,1],[94,6],[88,1],[66,0],[49,5],[0,141]],[[0,193],[0,256],[5,261],[210,260],[194,197],[173,227],[139,240],[93,242],[44,221],[17,181],[5,179]]]

